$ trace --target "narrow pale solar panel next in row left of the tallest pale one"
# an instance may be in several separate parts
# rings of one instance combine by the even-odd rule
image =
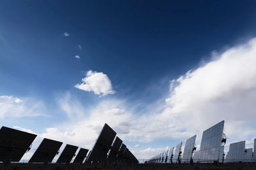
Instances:
[[[184,152],[182,153],[182,163],[191,162],[193,149],[195,148],[196,135],[186,140]]]

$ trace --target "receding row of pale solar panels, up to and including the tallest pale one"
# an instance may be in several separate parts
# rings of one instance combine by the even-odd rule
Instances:
[[[160,153],[147,161],[148,164],[161,163],[188,163],[188,162],[223,162],[224,145],[223,138],[224,120],[203,132],[200,150],[196,151],[196,135],[186,140],[182,154],[182,142],[166,152]],[[173,153],[174,150],[174,153]],[[193,154],[194,153],[194,154]]]

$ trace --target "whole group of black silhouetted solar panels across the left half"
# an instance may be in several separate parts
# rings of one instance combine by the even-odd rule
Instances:
[[[86,162],[105,162],[111,164],[120,162],[122,164],[138,163],[136,157],[126,148],[122,140],[117,136],[115,138],[115,136],[116,132],[105,124]],[[35,138],[36,134],[1,127],[0,161],[19,162],[23,155],[30,149],[31,143]],[[114,139],[115,141],[113,143]],[[44,138],[29,162],[52,162],[62,144],[60,141]],[[78,146],[66,145],[56,163],[70,163],[75,156],[77,148]],[[80,148],[72,163],[83,163],[87,153],[87,149]]]

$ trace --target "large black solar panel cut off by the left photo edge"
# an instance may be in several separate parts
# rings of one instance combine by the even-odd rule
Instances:
[[[0,129],[0,161],[19,162],[36,138],[36,134],[8,127]]]

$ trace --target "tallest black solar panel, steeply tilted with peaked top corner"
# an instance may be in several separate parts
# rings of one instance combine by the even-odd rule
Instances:
[[[86,162],[106,162],[108,150],[111,148],[115,136],[116,132],[108,124],[105,124]]]

